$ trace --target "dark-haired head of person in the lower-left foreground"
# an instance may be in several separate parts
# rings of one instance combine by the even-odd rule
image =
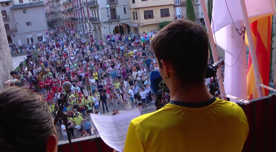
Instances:
[[[57,141],[51,111],[43,97],[20,87],[0,91],[1,151],[54,152]]]

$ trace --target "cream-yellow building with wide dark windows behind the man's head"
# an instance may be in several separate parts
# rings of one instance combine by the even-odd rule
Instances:
[[[174,0],[129,0],[134,33],[157,31],[159,23],[173,21]]]

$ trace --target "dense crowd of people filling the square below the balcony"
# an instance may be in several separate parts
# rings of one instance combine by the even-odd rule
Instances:
[[[158,70],[150,49],[155,31],[119,33],[112,35],[110,41],[78,38],[74,30],[65,28],[53,29],[49,35],[44,42],[36,44],[36,56],[28,52],[25,63],[20,63],[19,71],[10,73],[13,80],[6,84],[39,92],[55,117],[65,94],[62,84],[69,81],[71,95],[62,111],[70,114],[68,127],[72,138],[74,126],[83,128],[79,129],[81,136],[92,135],[87,130],[85,115],[109,112],[112,104],[131,104],[132,108],[138,107],[142,112],[154,102],[149,72]],[[60,119],[59,126],[65,135],[62,124]],[[64,140],[67,140],[65,136]]]

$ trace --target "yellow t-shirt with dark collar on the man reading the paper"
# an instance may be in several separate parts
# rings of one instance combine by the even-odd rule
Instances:
[[[239,152],[249,127],[237,104],[214,99],[205,107],[167,104],[133,119],[124,151]]]

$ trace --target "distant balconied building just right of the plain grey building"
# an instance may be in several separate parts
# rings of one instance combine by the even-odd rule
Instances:
[[[45,14],[48,27],[61,27],[63,25],[63,7],[61,0],[46,0]]]

